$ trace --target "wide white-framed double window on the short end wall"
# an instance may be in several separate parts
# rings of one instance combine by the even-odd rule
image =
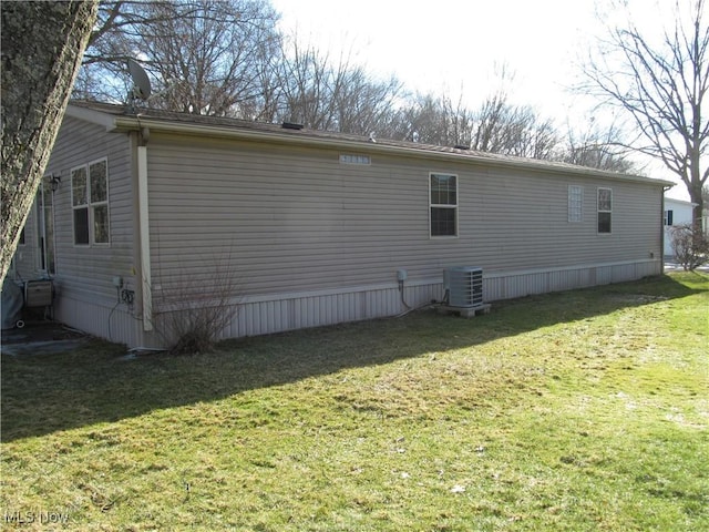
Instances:
[[[74,244],[109,244],[109,163],[105,158],[71,171]]]

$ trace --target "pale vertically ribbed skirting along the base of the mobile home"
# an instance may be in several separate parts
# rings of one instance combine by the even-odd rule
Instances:
[[[572,267],[483,272],[485,303],[532,294],[569,290],[635,280],[662,273],[659,259]],[[402,298],[403,295],[403,298]],[[443,299],[443,280],[405,282],[403,294],[394,283],[308,293],[249,296],[235,300],[238,313],[219,337],[238,338],[308,327],[397,316],[409,308]],[[405,305],[404,305],[405,301]],[[134,310],[133,310],[134,311]],[[493,308],[494,311],[494,308]],[[155,332],[144,332],[125,305],[62,295],[56,319],[92,335],[129,347],[158,347]]]

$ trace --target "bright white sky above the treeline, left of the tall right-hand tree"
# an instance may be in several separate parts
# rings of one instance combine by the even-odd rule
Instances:
[[[500,69],[514,103],[533,105],[555,120],[583,120],[589,101],[568,90],[579,80],[579,62],[603,32],[597,17],[608,0],[271,0],[281,30],[301,43],[341,52],[373,75],[394,74],[412,91],[463,95],[470,108],[500,85]],[[659,20],[654,0],[638,17]],[[669,6],[672,0],[659,0]],[[655,4],[655,7],[653,6]],[[658,168],[654,177],[672,178]],[[684,197],[681,191],[671,195]],[[680,192],[680,194],[676,194]]]

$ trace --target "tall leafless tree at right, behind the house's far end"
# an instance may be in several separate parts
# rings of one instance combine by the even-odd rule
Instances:
[[[599,53],[585,66],[588,82],[582,89],[629,117],[635,137],[620,143],[624,147],[661,161],[679,176],[696,205],[698,233],[701,190],[709,176],[703,161],[709,122],[702,113],[709,90],[709,28],[703,0],[676,2],[674,16],[658,41],[631,18],[623,28],[609,28]]]

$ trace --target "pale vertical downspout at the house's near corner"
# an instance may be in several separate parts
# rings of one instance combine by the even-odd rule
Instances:
[[[153,330],[153,279],[151,273],[151,227],[147,208],[147,140],[150,130],[140,132],[137,146],[137,204],[141,236],[141,289],[143,293],[143,330]]]

